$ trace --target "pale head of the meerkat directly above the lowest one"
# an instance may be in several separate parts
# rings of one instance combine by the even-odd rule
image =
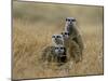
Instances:
[[[53,35],[52,36],[52,41],[54,44],[56,45],[62,45],[64,44],[64,38],[63,38],[63,35]]]

